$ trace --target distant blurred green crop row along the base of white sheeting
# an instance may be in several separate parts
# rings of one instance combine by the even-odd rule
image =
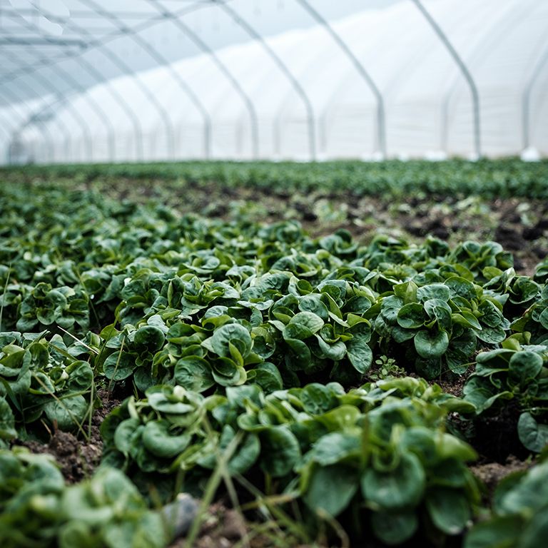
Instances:
[[[183,162],[141,164],[93,164],[29,166],[24,171],[28,180],[46,178],[56,181],[68,178],[72,183],[86,183],[94,179],[186,181],[191,187],[214,183],[215,186],[235,188],[248,186],[272,193],[310,193],[323,191],[348,196],[484,196],[487,198],[527,199],[548,196],[548,163],[524,163],[515,158],[483,159],[478,162],[450,160],[439,163],[427,161],[331,161],[322,163],[290,162]],[[3,168],[5,178],[21,178],[17,168]]]

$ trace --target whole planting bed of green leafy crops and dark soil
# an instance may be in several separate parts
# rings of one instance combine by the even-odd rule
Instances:
[[[547,172],[1,171],[0,540],[543,546]]]

